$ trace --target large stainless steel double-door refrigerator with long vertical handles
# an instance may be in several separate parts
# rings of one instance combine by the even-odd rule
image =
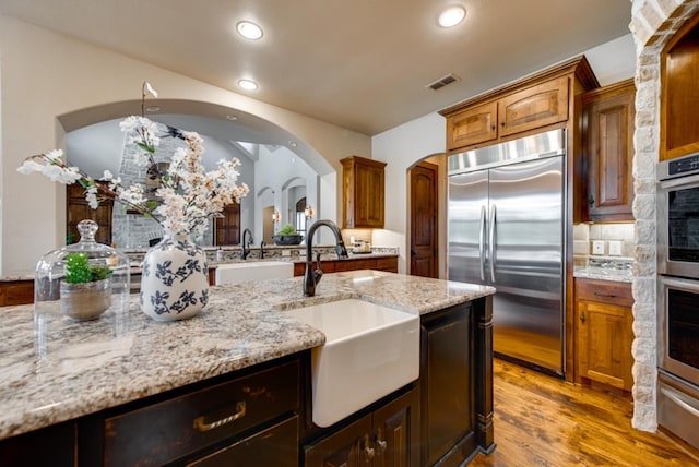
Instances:
[[[497,288],[495,354],[564,374],[566,133],[449,157],[449,279]]]

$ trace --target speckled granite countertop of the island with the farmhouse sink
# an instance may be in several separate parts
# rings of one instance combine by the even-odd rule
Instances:
[[[215,286],[186,321],[159,323],[138,297],[96,321],[34,319],[0,310],[0,439],[320,346],[324,335],[283,310],[360,298],[425,314],[495,292],[491,287],[377,271],[327,274],[316,297],[301,278]]]

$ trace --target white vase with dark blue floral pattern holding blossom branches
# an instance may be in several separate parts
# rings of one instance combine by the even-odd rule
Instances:
[[[208,301],[206,255],[188,235],[166,235],[145,253],[141,275],[145,314],[156,321],[186,320]]]

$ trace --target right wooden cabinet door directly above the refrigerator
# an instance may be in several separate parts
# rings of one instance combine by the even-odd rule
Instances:
[[[498,101],[499,135],[568,120],[568,76],[528,87]]]

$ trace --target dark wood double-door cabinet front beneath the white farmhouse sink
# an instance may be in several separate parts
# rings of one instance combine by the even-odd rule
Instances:
[[[305,446],[304,466],[417,466],[420,439],[418,392],[413,387]]]

